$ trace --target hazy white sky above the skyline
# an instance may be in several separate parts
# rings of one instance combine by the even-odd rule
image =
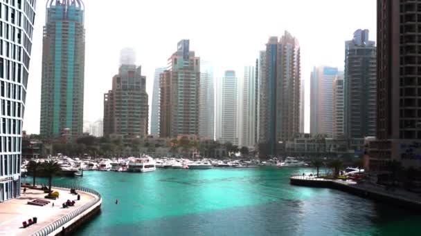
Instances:
[[[42,27],[46,0],[37,1],[24,130],[39,133]],[[215,77],[254,65],[270,36],[285,30],[301,46],[301,77],[306,80],[306,130],[310,130],[310,71],[328,65],[343,69],[345,41],[358,28],[376,39],[375,0],[84,0],[86,57],[84,120],[102,118],[103,94],[118,72],[121,48],[132,46],[147,77],[152,103],[154,69],[165,66],[180,39],[212,61]]]

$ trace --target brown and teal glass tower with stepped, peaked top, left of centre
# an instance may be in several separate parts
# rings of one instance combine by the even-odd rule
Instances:
[[[200,58],[183,39],[161,74],[160,137],[199,135]]]

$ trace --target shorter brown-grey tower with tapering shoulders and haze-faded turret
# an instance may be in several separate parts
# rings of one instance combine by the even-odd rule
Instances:
[[[127,60],[127,53],[135,52],[121,52],[118,75],[112,79],[112,89],[104,95],[103,122],[106,137],[120,137],[129,142],[147,136],[149,106],[146,77],[142,75],[141,66],[124,64],[134,63],[134,60]]]

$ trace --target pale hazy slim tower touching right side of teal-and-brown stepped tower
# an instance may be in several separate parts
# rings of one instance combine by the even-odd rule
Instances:
[[[215,85],[210,61],[200,60],[199,137],[215,137]]]

